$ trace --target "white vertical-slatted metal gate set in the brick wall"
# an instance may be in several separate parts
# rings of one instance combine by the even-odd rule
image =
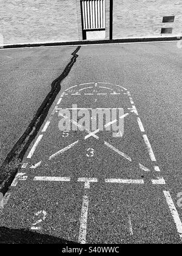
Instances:
[[[105,0],[81,1],[81,13],[83,21],[83,34],[91,35],[91,32],[99,32],[106,29],[106,5]],[[87,33],[89,32],[89,33]],[[95,35],[99,34],[95,33]],[[84,39],[86,39],[84,38]],[[87,38],[88,39],[88,38]],[[94,38],[95,39],[95,38]]]

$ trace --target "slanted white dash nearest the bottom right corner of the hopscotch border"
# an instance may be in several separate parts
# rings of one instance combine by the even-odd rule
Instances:
[[[174,219],[174,222],[177,226],[178,234],[180,235],[180,239],[182,241],[182,223],[180,216],[178,215],[177,208],[174,205],[174,202],[172,201],[172,197],[170,196],[169,191],[163,191],[164,196],[166,197],[166,202],[169,206],[170,213],[172,215],[172,218]]]

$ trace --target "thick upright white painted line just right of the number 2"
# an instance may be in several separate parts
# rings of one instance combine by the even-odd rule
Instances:
[[[80,244],[86,244],[88,208],[89,208],[89,198],[88,196],[83,196],[83,205],[81,209],[79,237],[78,237],[78,243]]]

